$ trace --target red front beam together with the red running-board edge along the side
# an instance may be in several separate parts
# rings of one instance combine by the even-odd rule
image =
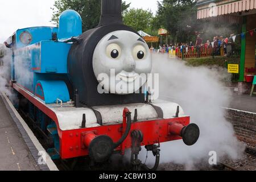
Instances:
[[[49,107],[47,107],[42,101],[39,101],[37,98],[32,96],[32,94],[28,93],[26,90],[18,86],[17,84],[13,84],[13,88],[17,90],[20,94],[27,98],[32,104],[34,104],[38,109],[43,111],[49,118],[51,118],[57,126],[58,134],[60,137],[60,156],[61,159],[70,159],[77,158],[80,156],[87,156],[88,149],[85,146],[95,138],[96,135],[108,135],[112,138],[113,142],[118,142],[118,140],[123,135],[123,130],[125,130],[126,126],[126,114],[129,110],[124,110],[125,117],[123,117],[123,123],[118,125],[110,125],[110,126],[100,126],[93,128],[85,128],[85,129],[76,129],[76,130],[67,130],[62,131],[59,127],[59,122],[55,112],[53,112]],[[172,140],[179,140],[181,137],[177,134],[172,134],[170,123],[179,123],[182,126],[189,125],[189,117],[183,118],[172,118],[172,119],[157,119],[154,121],[144,121],[144,122],[134,122],[131,125],[131,130],[141,130],[143,133],[143,142],[141,146],[146,146],[149,144],[155,143],[163,143]],[[176,126],[176,124],[174,126]],[[176,131],[176,130],[175,130]],[[179,130],[177,130],[179,131]],[[179,132],[176,132],[179,133]],[[88,137],[83,137],[85,135]],[[120,151],[121,154],[126,149],[131,148],[131,134],[128,135],[126,140],[122,143],[122,146],[116,148],[116,151]]]

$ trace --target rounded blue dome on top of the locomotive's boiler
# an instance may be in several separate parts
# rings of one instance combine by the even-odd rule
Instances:
[[[59,36],[61,39],[68,39],[72,36],[82,34],[82,19],[79,13],[74,10],[65,10],[59,18]]]

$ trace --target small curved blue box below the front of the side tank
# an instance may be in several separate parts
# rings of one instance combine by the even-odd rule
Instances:
[[[37,93],[38,89],[36,89],[35,95],[43,95],[46,104],[56,103],[57,98],[63,102],[70,100],[68,88],[64,81],[38,81],[36,88],[38,85],[42,86],[43,92],[39,89],[39,93]]]

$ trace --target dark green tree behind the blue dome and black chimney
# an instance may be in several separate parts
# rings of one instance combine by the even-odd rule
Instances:
[[[122,2],[122,11],[127,10],[130,3]],[[92,29],[98,25],[101,15],[100,0],[56,0],[53,7],[53,15],[51,21],[55,24],[59,23],[60,14],[68,9],[77,11],[82,18],[82,31]]]

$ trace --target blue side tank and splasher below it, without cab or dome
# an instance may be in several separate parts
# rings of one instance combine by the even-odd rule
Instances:
[[[49,87],[46,86],[47,104],[56,101],[55,96],[62,98],[63,102],[69,101],[69,93],[66,89],[68,83],[67,57],[71,46],[72,44],[68,43],[43,41],[16,49],[14,67],[17,84],[33,94],[36,90],[38,96],[42,96],[40,88],[36,89],[38,81],[48,81],[47,83],[53,81],[51,85],[53,93],[50,93]],[[62,85],[55,85],[54,81],[62,81]],[[54,93],[61,93],[63,90],[65,93],[61,95]]]

